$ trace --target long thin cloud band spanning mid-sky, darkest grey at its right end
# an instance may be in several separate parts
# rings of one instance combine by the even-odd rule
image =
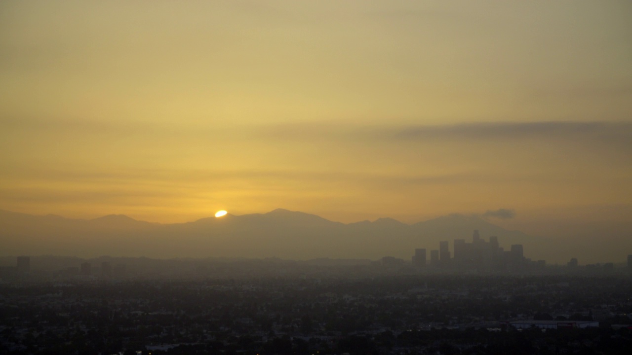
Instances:
[[[32,117],[4,118],[0,126],[40,131],[73,131],[98,135],[163,136],[178,133],[185,137],[241,136],[247,139],[274,141],[340,141],[346,143],[388,143],[389,141],[426,140],[523,140],[553,139],[605,141],[623,143],[632,148],[632,122],[623,121],[538,121],[538,122],[480,122],[446,125],[400,126],[391,124],[340,124],[334,121],[270,124],[264,126],[172,126],[145,122],[104,122],[82,119],[35,119]]]

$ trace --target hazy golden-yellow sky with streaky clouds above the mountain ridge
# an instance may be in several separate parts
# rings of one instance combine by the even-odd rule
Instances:
[[[630,18],[630,1],[4,1],[0,208],[629,221]]]

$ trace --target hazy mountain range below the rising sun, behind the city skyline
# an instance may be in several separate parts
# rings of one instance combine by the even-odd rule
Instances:
[[[430,250],[439,248],[439,241],[449,241],[450,249],[454,239],[471,242],[474,229],[485,239],[497,236],[505,250],[511,244],[523,244],[525,256],[534,260],[561,262],[581,256],[577,250],[573,250],[575,255],[566,253],[569,239],[528,236],[472,215],[446,215],[415,224],[389,218],[343,224],[281,208],[266,214],[228,214],[176,224],[144,222],[126,215],[85,220],[0,210],[0,255],[409,259],[415,248],[426,248],[429,256]],[[623,239],[620,246],[607,246],[607,250],[604,243],[595,242],[579,245],[586,253],[601,248],[604,255],[612,248],[632,248],[629,239]]]

